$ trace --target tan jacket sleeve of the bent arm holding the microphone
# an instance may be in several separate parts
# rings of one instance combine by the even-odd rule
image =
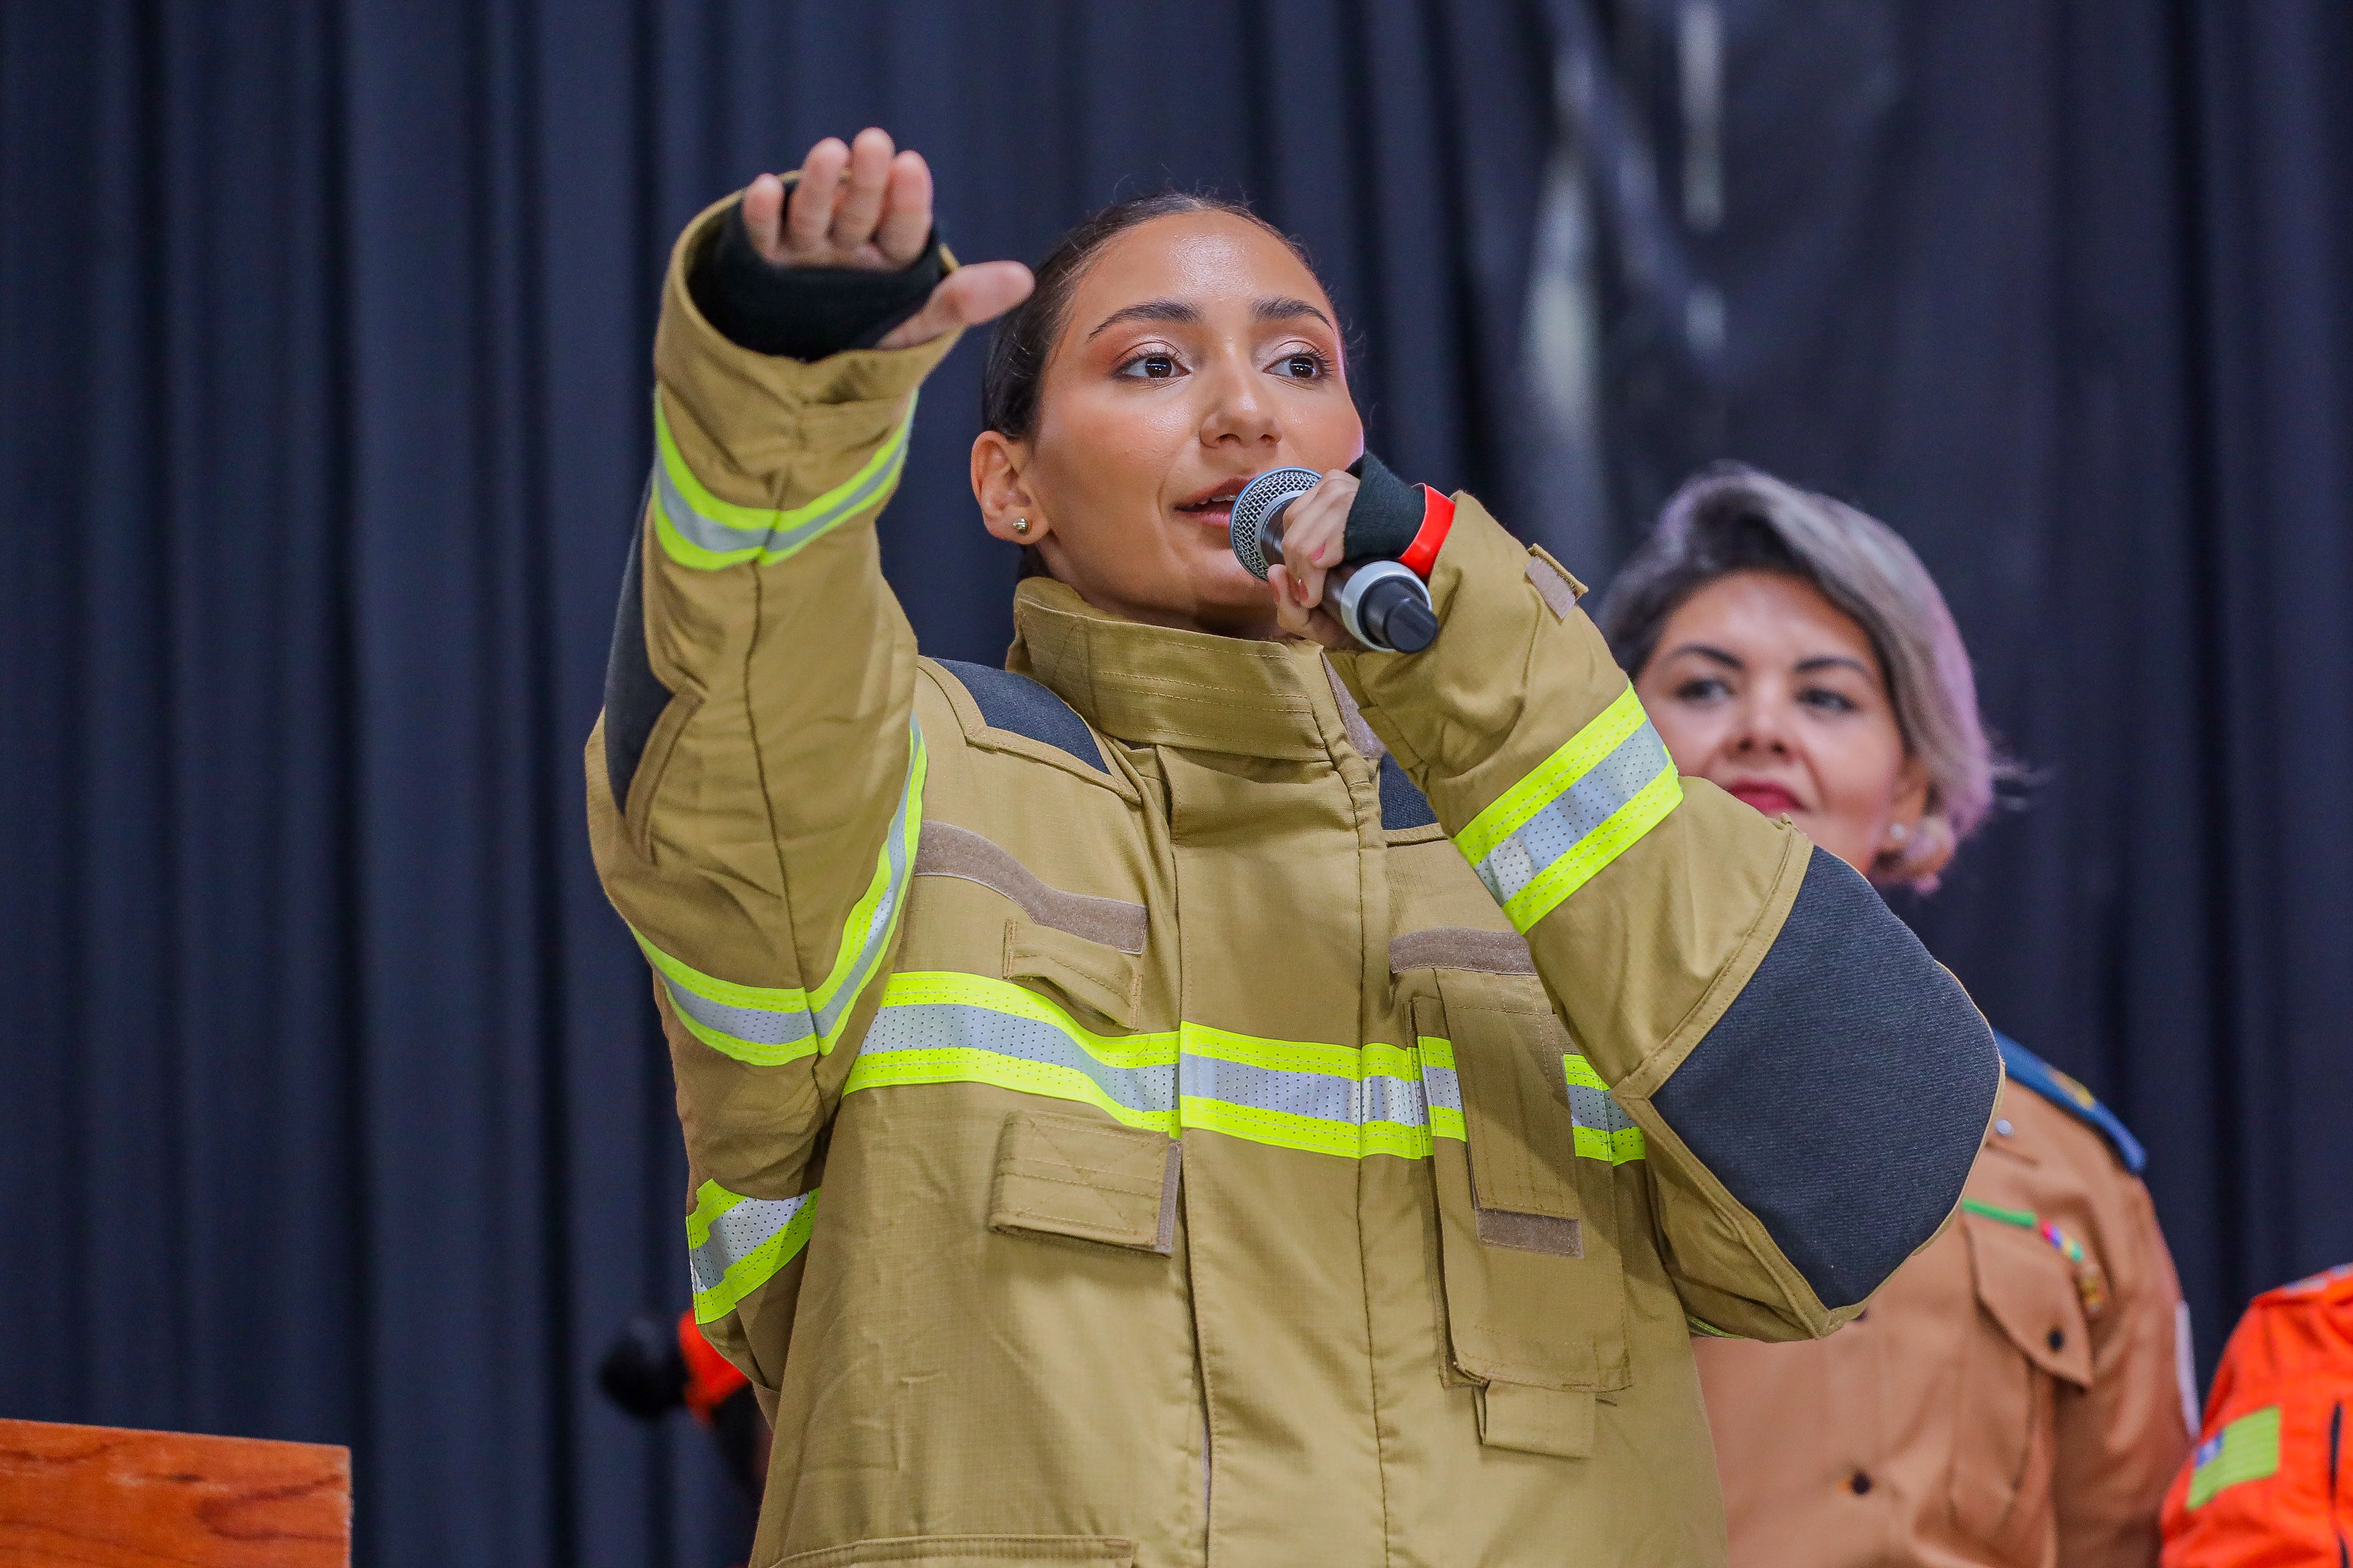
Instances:
[[[1574,585],[1468,496],[1431,595],[1438,642],[1334,668],[1642,1128],[1685,1309],[1828,1333],[1960,1201],[1986,1020],[1868,882],[1675,776]]]

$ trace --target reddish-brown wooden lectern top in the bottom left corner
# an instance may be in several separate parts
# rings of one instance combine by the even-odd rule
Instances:
[[[346,1568],[351,1448],[0,1420],[7,1568]]]

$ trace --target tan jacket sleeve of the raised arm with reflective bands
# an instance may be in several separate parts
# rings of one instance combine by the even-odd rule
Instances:
[[[873,1013],[922,818],[915,637],[873,520],[951,339],[807,364],[729,343],[687,289],[729,207],[664,284],[588,837],[671,1044],[694,1316],[772,1396],[840,1046]]]

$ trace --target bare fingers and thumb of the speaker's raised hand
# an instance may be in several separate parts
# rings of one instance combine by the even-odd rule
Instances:
[[[896,270],[932,235],[932,169],[922,153],[894,150],[880,127],[866,127],[849,146],[826,136],[800,162],[791,205],[774,174],[744,190],[744,228],[776,266]],[[1031,287],[1035,280],[1019,261],[960,266],[880,346],[913,348],[995,320],[1028,299]]]

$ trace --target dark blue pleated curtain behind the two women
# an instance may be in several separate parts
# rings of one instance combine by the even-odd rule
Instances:
[[[2348,26],[0,5],[0,1413],[353,1443],[369,1563],[727,1561],[704,1439],[591,1387],[685,1288],[579,745],[668,240],[866,122],[932,155],[967,256],[1160,183],[1257,197],[1365,339],[1377,447],[1593,576],[1725,454],[1915,538],[2040,783],[1908,912],[2151,1143],[2212,1352],[2353,1255]],[[1602,512],[1520,348],[1565,146]],[[1678,183],[1708,146],[1713,209]],[[882,531],[927,646],[995,658],[974,376],[927,390]]]

